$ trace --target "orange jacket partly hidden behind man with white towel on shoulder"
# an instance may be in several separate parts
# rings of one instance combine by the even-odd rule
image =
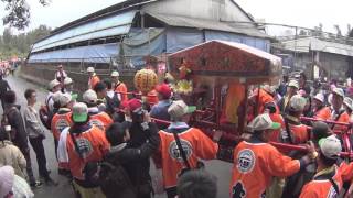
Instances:
[[[54,135],[54,139],[58,141],[60,133],[67,127],[73,124],[72,121],[72,111],[69,109],[60,109],[57,113],[54,114],[51,123],[51,130]]]

